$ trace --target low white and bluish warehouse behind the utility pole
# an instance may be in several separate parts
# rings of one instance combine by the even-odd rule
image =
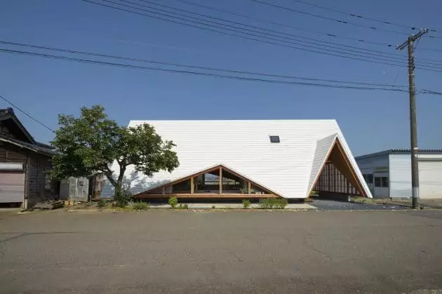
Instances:
[[[442,149],[418,152],[420,198],[442,199]],[[374,197],[411,197],[410,150],[389,149],[356,157]]]

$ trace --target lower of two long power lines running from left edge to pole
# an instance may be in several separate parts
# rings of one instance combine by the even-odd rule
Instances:
[[[49,54],[42,54],[42,53],[34,53],[29,51],[15,51],[15,50],[8,50],[0,48],[0,52],[2,53],[10,53],[15,55],[32,55],[32,56],[39,56],[43,58],[49,58],[49,59],[55,59],[55,60],[67,60],[67,61],[74,61],[74,62],[82,62],[82,63],[90,63],[95,65],[106,65],[106,66],[112,66],[112,67],[125,67],[129,69],[147,69],[147,70],[154,70],[159,72],[170,72],[175,74],[193,74],[197,76],[212,76],[216,78],[221,79],[238,79],[241,81],[256,81],[256,82],[264,82],[264,83],[279,83],[279,84],[288,84],[288,85],[299,85],[299,86],[313,86],[313,87],[319,87],[319,88],[344,88],[344,89],[354,89],[354,90],[382,90],[382,91],[394,91],[394,92],[407,92],[405,89],[401,88],[382,88],[382,87],[369,87],[369,86],[342,86],[342,85],[334,85],[334,84],[326,84],[326,83],[306,83],[306,82],[300,82],[300,81],[283,81],[278,79],[257,79],[257,78],[250,78],[247,76],[233,76],[233,75],[225,75],[225,74],[213,74],[213,73],[207,73],[207,72],[194,72],[194,71],[188,71],[188,70],[180,70],[180,69],[166,69],[161,67],[143,67],[140,65],[129,65],[129,64],[123,64],[123,63],[115,63],[115,62],[104,62],[99,60],[88,60],[84,58],[69,58],[65,56],[60,55],[49,55]]]

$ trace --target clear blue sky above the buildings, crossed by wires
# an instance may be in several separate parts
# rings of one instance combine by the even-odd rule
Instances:
[[[290,34],[396,53],[394,48],[327,39],[309,32],[206,11],[175,0],[154,1]],[[400,44],[406,38],[400,34],[372,32],[281,11],[250,0],[189,1],[351,38],[389,44]],[[307,1],[391,22],[442,29],[441,1]],[[113,11],[80,0],[0,2],[1,40],[250,72],[368,83],[396,82],[397,85],[406,85],[408,82],[405,67],[260,44]],[[333,18],[344,18],[343,15],[292,0],[274,0],[273,3]],[[347,20],[358,21],[351,18]],[[382,27],[375,22],[359,23]],[[383,27],[407,32],[398,27]],[[442,36],[442,33],[436,36]],[[442,53],[420,51],[420,47],[442,49],[442,39],[422,39],[416,52],[417,58],[442,60]],[[107,109],[112,119],[122,125],[130,119],[337,119],[355,155],[392,147],[407,148],[410,141],[408,93],[253,83],[101,67],[4,53],[0,53],[0,65],[0,95],[52,128],[57,127],[58,113],[78,114],[83,105],[100,104]],[[417,69],[416,86],[442,91],[441,77],[441,72]],[[8,106],[0,100],[0,107]],[[442,147],[439,131],[442,125],[441,109],[441,96],[417,96],[418,143],[421,148]],[[48,142],[52,139],[51,132],[20,113],[18,116],[37,140]]]

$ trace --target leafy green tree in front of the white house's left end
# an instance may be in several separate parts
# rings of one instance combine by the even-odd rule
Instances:
[[[81,107],[79,118],[59,114],[58,124],[60,128],[51,142],[58,152],[53,157],[53,177],[90,177],[101,172],[114,186],[114,197],[120,206],[127,203],[123,179],[128,166],[152,176],[162,170],[171,172],[180,164],[172,151],[175,144],[162,140],[153,126],[119,126],[100,105]],[[114,161],[118,163],[118,173],[111,169]]]

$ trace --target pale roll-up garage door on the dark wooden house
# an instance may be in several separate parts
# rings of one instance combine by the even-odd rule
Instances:
[[[0,203],[23,202],[24,194],[22,163],[0,163]]]

